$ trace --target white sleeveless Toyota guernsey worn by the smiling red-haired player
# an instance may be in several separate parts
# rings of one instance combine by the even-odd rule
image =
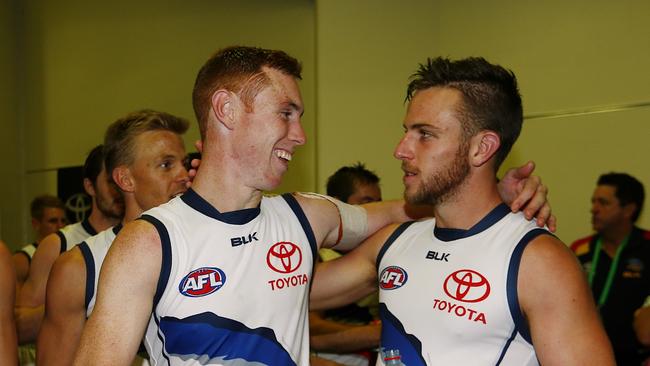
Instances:
[[[145,346],[153,365],[308,365],[316,255],[291,195],[218,212],[193,190],[145,212],[163,263]]]

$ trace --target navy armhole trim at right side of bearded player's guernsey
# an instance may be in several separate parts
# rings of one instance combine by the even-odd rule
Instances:
[[[550,233],[544,229],[533,229],[526,233],[517,246],[512,252],[510,257],[510,264],[508,265],[508,277],[506,280],[506,296],[508,297],[508,307],[510,308],[510,315],[515,322],[515,330],[521,334],[521,336],[526,340],[526,342],[533,344],[532,338],[530,336],[530,328],[526,323],[524,315],[521,313],[521,307],[519,306],[519,294],[517,293],[517,282],[519,277],[519,265],[521,264],[521,256],[524,253],[524,249],[528,243],[540,235],[550,235]],[[509,345],[509,343],[508,343]],[[504,350],[505,352],[505,350]]]

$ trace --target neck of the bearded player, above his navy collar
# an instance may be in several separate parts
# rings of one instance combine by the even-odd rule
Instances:
[[[436,226],[467,230],[501,202],[494,174],[474,171],[453,197],[436,206]]]

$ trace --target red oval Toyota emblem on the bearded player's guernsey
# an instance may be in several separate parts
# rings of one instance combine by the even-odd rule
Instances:
[[[479,302],[490,295],[490,283],[482,274],[471,269],[456,271],[445,280],[447,296],[462,302]]]

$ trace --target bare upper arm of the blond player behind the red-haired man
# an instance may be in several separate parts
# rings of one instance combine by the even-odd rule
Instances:
[[[39,365],[70,365],[86,322],[86,265],[78,247],[61,255],[47,282],[45,318],[38,333]]]

